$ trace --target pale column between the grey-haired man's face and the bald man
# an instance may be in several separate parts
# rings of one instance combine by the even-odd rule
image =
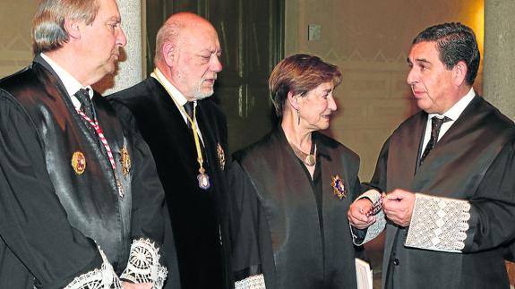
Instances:
[[[142,2],[144,1],[118,0],[117,2],[122,16],[122,28],[127,37],[127,45],[118,62],[116,74],[107,75],[94,86],[104,96],[131,87],[142,81],[143,78],[142,15],[144,15],[144,4]]]

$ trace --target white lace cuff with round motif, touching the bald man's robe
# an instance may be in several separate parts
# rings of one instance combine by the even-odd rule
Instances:
[[[159,249],[149,239],[134,240],[127,268],[120,278],[133,283],[153,283],[154,289],[163,286],[168,270],[159,264]]]

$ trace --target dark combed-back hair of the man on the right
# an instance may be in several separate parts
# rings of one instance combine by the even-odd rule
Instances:
[[[447,69],[460,61],[467,64],[466,81],[468,85],[474,84],[481,55],[473,30],[459,22],[438,24],[420,32],[413,44],[424,41],[436,42],[440,60]]]

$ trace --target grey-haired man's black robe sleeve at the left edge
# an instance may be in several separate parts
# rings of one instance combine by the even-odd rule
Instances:
[[[64,287],[102,263],[96,244],[67,220],[34,124],[1,90],[0,236],[41,288]]]

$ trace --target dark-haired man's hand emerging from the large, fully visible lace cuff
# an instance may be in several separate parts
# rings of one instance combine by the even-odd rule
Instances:
[[[411,223],[411,215],[415,206],[415,193],[395,189],[382,198],[382,211],[391,222],[408,226]]]

